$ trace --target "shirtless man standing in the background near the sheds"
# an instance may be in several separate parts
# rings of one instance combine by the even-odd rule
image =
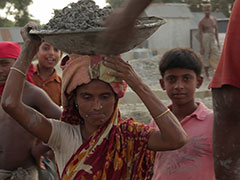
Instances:
[[[209,59],[212,54],[216,54],[217,50],[220,50],[219,39],[218,39],[218,28],[217,21],[214,17],[211,16],[211,5],[206,4],[203,6],[203,11],[205,16],[199,22],[199,42],[200,42],[200,53],[203,56],[204,60],[204,70],[206,73],[206,77],[209,80]]]

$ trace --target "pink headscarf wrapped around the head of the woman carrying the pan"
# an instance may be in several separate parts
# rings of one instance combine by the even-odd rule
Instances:
[[[114,71],[103,65],[102,55],[81,56],[72,54],[65,56],[61,63],[62,75],[62,105],[61,119],[71,124],[79,124],[81,119],[73,102],[73,90],[82,84],[88,84],[92,79],[99,79],[112,87],[118,98],[124,96],[127,84],[123,80],[109,76],[109,71]]]

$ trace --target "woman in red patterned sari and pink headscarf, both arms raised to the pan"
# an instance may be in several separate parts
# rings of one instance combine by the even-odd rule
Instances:
[[[176,117],[120,57],[70,55],[64,58],[62,121],[48,119],[21,102],[23,74],[39,41],[27,29],[21,57],[10,72],[2,106],[55,152],[61,179],[149,179],[154,151],[177,149],[186,134]],[[121,119],[118,103],[126,83],[142,99],[159,130]]]

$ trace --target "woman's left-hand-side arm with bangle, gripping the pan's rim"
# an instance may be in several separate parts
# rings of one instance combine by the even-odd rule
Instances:
[[[26,72],[41,43],[40,38],[29,35],[30,29],[34,28],[36,25],[29,23],[21,30],[24,44],[17,61],[10,68],[1,105],[22,127],[46,143],[52,131],[50,122],[42,114],[22,102]]]

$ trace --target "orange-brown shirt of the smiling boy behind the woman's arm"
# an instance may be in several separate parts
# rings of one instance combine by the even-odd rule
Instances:
[[[57,75],[55,69],[48,79],[43,80],[39,74],[38,66],[36,65],[32,79],[35,85],[42,88],[57,105],[61,106],[62,79]]]

